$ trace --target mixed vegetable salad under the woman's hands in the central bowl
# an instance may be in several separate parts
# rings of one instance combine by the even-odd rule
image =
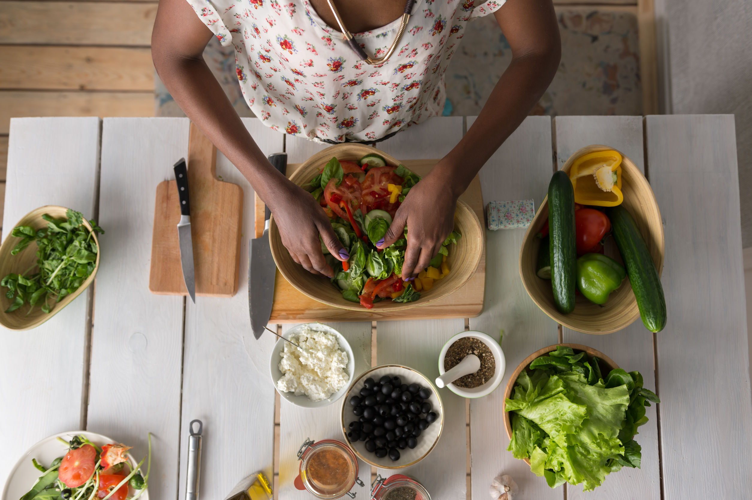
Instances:
[[[419,181],[420,177],[404,165],[390,167],[380,155],[370,154],[357,162],[332,158],[309,183],[311,195],[350,252],[350,258],[341,262],[321,243],[326,261],[335,271],[332,283],[346,300],[366,309],[385,299],[412,302],[420,299],[420,291],[431,290],[435,280],[449,273],[447,245],[459,239],[456,230],[447,236],[429,267],[410,283],[402,281],[407,240],[403,237],[387,248],[376,248],[405,196]]]

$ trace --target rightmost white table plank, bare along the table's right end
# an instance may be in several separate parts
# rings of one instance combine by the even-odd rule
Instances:
[[[732,115],[647,116],[647,171],[666,220],[656,333],[664,498],[702,477],[717,498],[747,498],[752,404]]]

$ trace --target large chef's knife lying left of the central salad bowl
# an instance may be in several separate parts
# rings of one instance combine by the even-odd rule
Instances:
[[[287,170],[287,153],[274,153],[268,157],[269,163],[282,175]],[[269,248],[269,217],[267,206],[264,212],[264,233],[250,240],[248,248],[248,309],[250,310],[250,327],[253,336],[259,339],[271,316],[271,304],[274,302],[274,275],[277,266],[271,258]]]

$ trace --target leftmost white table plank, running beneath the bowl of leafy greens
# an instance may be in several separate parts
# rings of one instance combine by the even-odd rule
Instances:
[[[92,217],[99,119],[14,119],[11,137],[4,227],[14,227],[27,212],[50,204],[69,206]],[[50,175],[50,165],[65,175]],[[8,429],[9,451],[0,457],[0,489],[24,450],[48,435],[86,424],[83,396],[91,297],[89,288],[34,330],[2,332],[0,399],[6,411],[0,412],[0,425]]]

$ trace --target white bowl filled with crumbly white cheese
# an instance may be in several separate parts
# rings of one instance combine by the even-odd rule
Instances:
[[[347,393],[355,371],[353,350],[332,327],[300,324],[284,334],[300,348],[277,340],[269,371],[274,388],[302,408],[323,408]]]

